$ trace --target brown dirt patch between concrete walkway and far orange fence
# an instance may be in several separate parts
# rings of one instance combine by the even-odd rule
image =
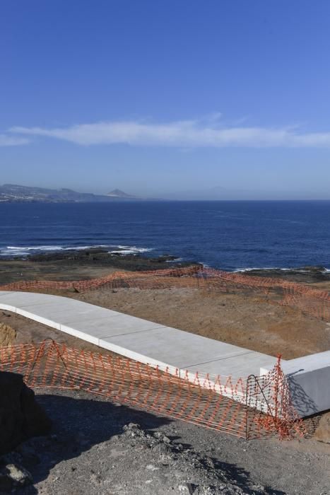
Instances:
[[[283,359],[326,351],[330,325],[255,293],[116,289],[71,294],[81,301]]]

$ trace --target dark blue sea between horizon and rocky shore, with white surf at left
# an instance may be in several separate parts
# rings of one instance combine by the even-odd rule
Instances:
[[[0,204],[0,256],[103,246],[234,271],[330,269],[330,201]]]

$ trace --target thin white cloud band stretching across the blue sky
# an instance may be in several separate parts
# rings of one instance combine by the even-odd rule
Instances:
[[[219,115],[216,115],[218,120]],[[12,127],[10,132],[47,136],[75,144],[129,144],[131,146],[198,147],[330,147],[330,132],[300,133],[297,127],[219,127],[217,122],[182,120],[165,124],[114,121],[65,128]]]

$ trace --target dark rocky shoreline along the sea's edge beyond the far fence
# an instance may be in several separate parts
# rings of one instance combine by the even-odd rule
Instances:
[[[37,274],[41,275],[43,279],[43,274],[48,273],[52,276],[52,274],[59,274],[59,270],[61,279],[70,279],[69,274],[74,275],[74,279],[83,279],[93,277],[93,275],[88,276],[86,274],[86,269],[88,268],[92,271],[95,271],[95,269],[114,269],[139,272],[194,265],[202,266],[201,263],[191,260],[182,261],[180,258],[167,253],[155,257],[150,253],[129,254],[122,248],[111,252],[106,248],[86,248],[83,250],[62,250],[0,259],[0,277],[1,283],[4,284],[23,279],[35,279]],[[237,273],[280,278],[302,284],[330,281],[330,272],[319,266],[293,267],[292,269],[255,268]],[[56,278],[58,279],[58,277]]]

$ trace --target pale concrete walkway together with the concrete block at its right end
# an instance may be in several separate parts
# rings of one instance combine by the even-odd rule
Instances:
[[[201,376],[209,373],[211,381],[214,375],[259,376],[276,363],[276,358],[266,354],[61,296],[0,291],[0,309],[141,363],[168,368],[170,373],[179,370],[186,376],[188,371],[189,380],[194,380],[196,371]],[[330,409],[330,351],[281,363],[293,405],[302,417]],[[226,395],[223,389],[219,391]],[[243,402],[244,395],[237,393],[235,400]]]

